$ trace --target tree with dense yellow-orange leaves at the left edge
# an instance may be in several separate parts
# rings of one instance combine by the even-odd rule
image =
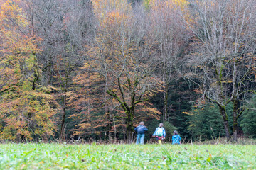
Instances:
[[[48,137],[55,129],[53,96],[38,86],[40,39],[29,32],[20,1],[5,1],[0,16],[0,119],[1,137],[33,140]]]

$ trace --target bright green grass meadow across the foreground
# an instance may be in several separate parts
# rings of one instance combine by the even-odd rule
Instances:
[[[256,146],[3,144],[0,169],[256,169]]]

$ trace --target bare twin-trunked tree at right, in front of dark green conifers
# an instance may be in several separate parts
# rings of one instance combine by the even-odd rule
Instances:
[[[200,82],[203,95],[219,106],[228,140],[226,106],[233,103],[236,140],[237,120],[243,111],[239,102],[244,101],[249,90],[246,81],[251,81],[255,70],[255,1],[190,2],[195,19],[188,26],[196,35],[190,60],[196,73],[193,77]]]

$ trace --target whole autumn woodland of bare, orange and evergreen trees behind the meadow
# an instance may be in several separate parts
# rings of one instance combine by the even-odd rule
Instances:
[[[0,0],[0,140],[256,137],[255,0]]]

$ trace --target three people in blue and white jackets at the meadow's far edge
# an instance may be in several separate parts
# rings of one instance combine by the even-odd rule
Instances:
[[[144,126],[144,122],[140,122],[139,125],[134,128],[134,131],[137,132],[136,144],[144,144],[145,132],[148,131],[146,126]],[[159,144],[162,145],[162,140],[164,140],[166,137],[164,123],[159,124],[159,127],[156,128],[152,137],[156,137],[156,140],[158,140]],[[174,135],[172,136],[171,140],[173,145],[181,144],[181,137],[178,135],[176,130],[174,130]]]

